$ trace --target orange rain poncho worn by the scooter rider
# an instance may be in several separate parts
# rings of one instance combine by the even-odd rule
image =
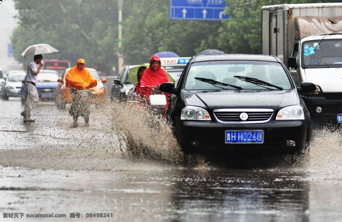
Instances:
[[[86,65],[86,61],[83,59],[79,59],[77,64],[78,63],[84,63],[84,65]],[[65,76],[65,85],[66,87],[70,87],[75,90],[83,90],[97,86],[97,80],[90,75],[86,68],[80,71],[76,65],[71,68]]]

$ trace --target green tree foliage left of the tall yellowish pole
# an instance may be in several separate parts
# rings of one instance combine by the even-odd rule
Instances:
[[[84,58],[87,67],[110,71],[117,64],[117,6],[113,0],[14,0],[19,25],[12,35],[14,56],[26,66],[21,53],[30,45],[47,43],[59,52],[44,58]],[[32,57],[32,58],[31,58]],[[24,67],[25,67],[24,66]]]

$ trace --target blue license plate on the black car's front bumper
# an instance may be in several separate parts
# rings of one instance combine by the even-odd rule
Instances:
[[[263,143],[263,130],[226,130],[226,143]]]

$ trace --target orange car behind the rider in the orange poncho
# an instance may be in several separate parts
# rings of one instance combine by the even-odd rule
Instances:
[[[68,74],[68,71],[71,68],[67,68],[62,75],[62,78],[58,79],[58,86],[57,86],[57,92],[56,92],[56,105],[57,108],[65,108],[65,104],[70,103],[73,100],[73,96],[69,92],[67,88],[65,88],[65,76]],[[94,79],[97,80],[97,86],[90,88],[92,91],[92,94],[94,95],[94,99],[92,99],[92,103],[95,105],[98,105],[100,103],[105,102],[105,96],[106,96],[106,89],[103,85],[104,82],[107,80],[105,78],[101,79],[100,74],[98,74],[96,69],[93,68],[86,68],[89,73],[94,77]]]

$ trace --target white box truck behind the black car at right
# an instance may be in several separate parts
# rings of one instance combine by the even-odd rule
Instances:
[[[342,122],[342,3],[268,5],[262,11],[262,53],[275,55],[297,84],[313,120]]]

